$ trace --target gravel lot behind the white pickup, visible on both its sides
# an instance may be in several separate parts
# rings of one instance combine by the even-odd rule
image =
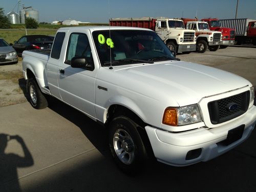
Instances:
[[[219,68],[248,79],[256,87],[256,47],[228,47],[216,52],[179,54],[178,58]],[[0,107],[27,101],[22,62],[0,65]]]

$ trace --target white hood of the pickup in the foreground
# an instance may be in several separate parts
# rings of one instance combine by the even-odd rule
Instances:
[[[121,66],[115,67],[114,72],[116,75],[112,78],[115,82],[118,79],[121,87],[158,100],[164,99],[162,101],[173,106],[174,102],[185,106],[198,103],[203,97],[251,86],[238,75],[183,61]]]

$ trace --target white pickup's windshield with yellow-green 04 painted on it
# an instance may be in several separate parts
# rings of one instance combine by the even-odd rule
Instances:
[[[93,38],[101,66],[153,63],[175,59],[172,52],[153,31],[94,31]]]

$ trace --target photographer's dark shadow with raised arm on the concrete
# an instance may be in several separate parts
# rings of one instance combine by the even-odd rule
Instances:
[[[9,140],[15,139],[22,147],[24,157],[14,153],[5,153]],[[24,140],[18,136],[0,134],[0,191],[21,191],[17,168],[28,167],[34,164],[31,153],[29,152]]]

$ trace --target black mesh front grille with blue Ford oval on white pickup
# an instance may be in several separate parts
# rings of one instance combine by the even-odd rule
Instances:
[[[249,102],[250,91],[209,102],[211,123],[223,123],[244,114],[248,110]]]

